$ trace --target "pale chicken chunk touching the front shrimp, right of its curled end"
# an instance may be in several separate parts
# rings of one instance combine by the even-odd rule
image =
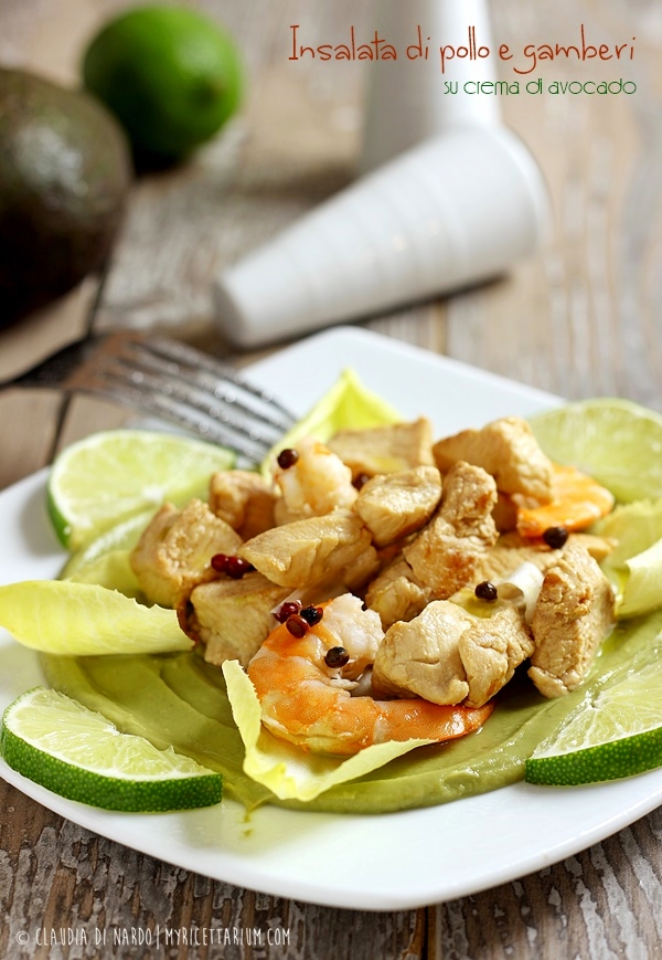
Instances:
[[[377,696],[417,694],[434,704],[459,704],[469,693],[458,642],[474,618],[455,603],[435,600],[409,623],[394,623],[375,656]]]

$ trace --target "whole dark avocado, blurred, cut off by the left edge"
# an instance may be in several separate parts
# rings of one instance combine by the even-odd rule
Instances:
[[[125,135],[102,104],[0,68],[0,326],[103,264],[131,178]]]

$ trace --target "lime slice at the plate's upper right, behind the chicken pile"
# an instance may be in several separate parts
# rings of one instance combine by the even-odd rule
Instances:
[[[532,418],[552,460],[570,463],[621,503],[662,496],[662,415],[629,400],[568,403]]]

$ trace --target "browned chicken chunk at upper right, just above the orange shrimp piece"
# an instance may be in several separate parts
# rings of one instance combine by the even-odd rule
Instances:
[[[540,449],[531,426],[519,416],[505,416],[482,430],[463,430],[433,447],[441,473],[466,460],[482,466],[504,494],[524,494],[540,503],[552,498],[552,462]]]

